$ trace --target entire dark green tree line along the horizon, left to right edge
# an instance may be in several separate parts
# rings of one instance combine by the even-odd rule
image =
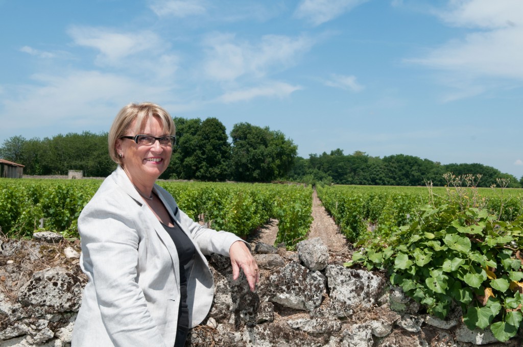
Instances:
[[[237,123],[228,135],[217,118],[174,118],[176,145],[161,179],[201,181],[234,180],[269,182],[290,180],[304,183],[365,184],[376,186],[434,186],[447,184],[444,173],[481,174],[479,187],[491,187],[496,179],[509,179],[510,188],[521,188],[523,177],[482,164],[446,164],[396,154],[372,157],[342,149],[309,158],[297,156],[298,147],[277,130]],[[106,177],[116,164],[107,149],[107,133],[68,133],[53,137],[13,136],[0,147],[0,158],[25,165],[25,175],[66,175],[83,170],[86,177]]]

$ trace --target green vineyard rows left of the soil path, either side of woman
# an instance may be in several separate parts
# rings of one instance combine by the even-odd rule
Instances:
[[[43,228],[77,237],[77,218],[101,180],[2,179],[0,226],[8,237]],[[245,237],[278,219],[277,243],[292,248],[312,222],[312,189],[297,185],[158,181],[195,221]]]

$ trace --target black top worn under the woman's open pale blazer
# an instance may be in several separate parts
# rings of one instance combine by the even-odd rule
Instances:
[[[176,250],[178,251],[178,259],[180,262],[180,308],[178,311],[178,327],[176,329],[175,347],[185,345],[185,339],[189,332],[189,309],[187,308],[187,274],[186,269],[189,261],[194,257],[196,249],[189,237],[173,223],[174,227],[168,227],[163,224],[165,231],[173,239]]]

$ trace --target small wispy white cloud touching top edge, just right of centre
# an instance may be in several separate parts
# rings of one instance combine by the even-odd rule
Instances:
[[[294,16],[317,26],[334,19],[368,0],[303,0]]]

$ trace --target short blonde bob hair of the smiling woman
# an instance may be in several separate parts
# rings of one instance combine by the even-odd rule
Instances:
[[[160,106],[151,102],[130,103],[118,112],[115,120],[112,122],[111,130],[109,130],[109,156],[112,161],[117,164],[122,164],[122,161],[116,152],[116,140],[121,136],[128,135],[126,132],[129,130],[129,126],[134,120],[136,120],[136,124],[132,135],[138,135],[140,130],[143,129],[145,121],[150,117],[158,117],[162,122],[162,128],[166,133],[170,135],[176,133],[173,118],[171,118],[169,113]]]

